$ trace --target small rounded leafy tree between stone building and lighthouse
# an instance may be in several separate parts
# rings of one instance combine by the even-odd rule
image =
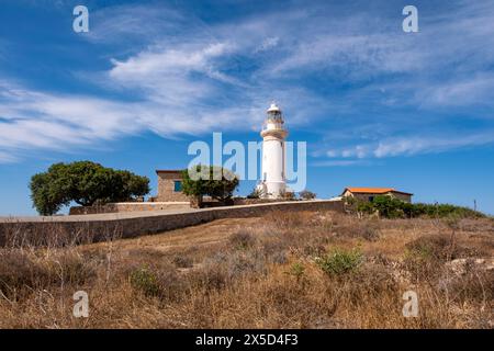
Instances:
[[[194,196],[199,203],[202,196],[210,195],[220,201],[227,202],[238,186],[238,177],[222,167],[198,165],[182,171],[182,192]]]

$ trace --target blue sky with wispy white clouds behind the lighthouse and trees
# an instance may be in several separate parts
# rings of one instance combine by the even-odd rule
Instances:
[[[72,31],[89,9],[90,32]],[[418,9],[404,33],[402,9]],[[147,176],[193,140],[307,141],[307,188],[394,186],[494,214],[492,1],[0,3],[0,215],[32,174],[90,159]],[[244,182],[240,194],[254,182]]]

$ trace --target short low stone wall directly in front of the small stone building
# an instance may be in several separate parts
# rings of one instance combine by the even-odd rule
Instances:
[[[100,206],[74,206],[69,215],[94,215],[100,213],[124,213],[160,210],[189,208],[190,202],[119,202]]]

